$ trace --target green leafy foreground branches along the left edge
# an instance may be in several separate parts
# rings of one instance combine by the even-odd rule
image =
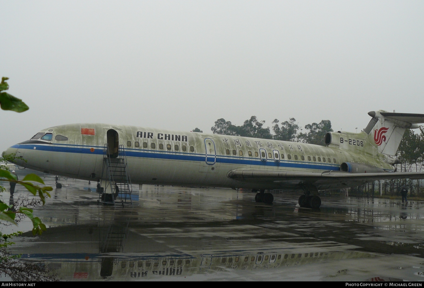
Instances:
[[[0,83],[0,107],[3,110],[10,110],[14,112],[24,112],[29,109],[29,107],[19,98],[16,98],[4,90],[9,89],[7,84],[7,77],[3,77]],[[0,157],[0,163],[2,162],[13,162],[15,155],[4,155]],[[8,171],[6,165],[0,165],[0,179],[2,181],[14,182],[24,186],[29,192],[34,196],[38,196],[42,201],[43,205],[45,203],[45,196],[50,197],[48,191],[53,190],[52,187],[40,187],[33,182],[41,183],[44,185],[43,180],[36,174],[28,174],[22,179],[22,181],[17,180],[17,176]],[[6,188],[0,186],[0,192],[4,192]],[[33,215],[33,210],[30,208],[34,206],[32,202],[27,202],[26,205],[21,202],[22,206],[17,207],[15,204],[6,204],[0,200],[0,220],[6,221],[6,223],[11,223],[17,225],[17,222],[22,219],[22,216],[29,218],[32,221],[33,234],[41,234],[42,231],[46,230],[45,224],[43,224],[40,218]],[[18,205],[19,206],[19,205]],[[15,281],[49,281],[55,280],[55,276],[51,274],[50,269],[47,265],[40,266],[34,263],[28,263],[20,260],[20,255],[11,255],[7,251],[7,247],[14,244],[10,240],[12,237],[16,237],[22,234],[22,232],[16,232],[11,234],[3,234],[0,232],[0,273],[6,274]]]

